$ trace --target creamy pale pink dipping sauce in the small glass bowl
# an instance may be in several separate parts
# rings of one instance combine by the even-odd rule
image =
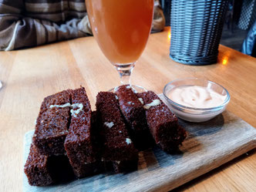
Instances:
[[[227,98],[204,86],[179,86],[172,89],[167,97],[175,103],[194,108],[220,106]]]

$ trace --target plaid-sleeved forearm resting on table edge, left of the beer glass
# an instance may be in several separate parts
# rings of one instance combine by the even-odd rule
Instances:
[[[24,17],[23,10],[23,0],[0,2],[0,50],[9,51],[92,34],[87,15],[83,19],[72,19],[56,25],[54,22]]]

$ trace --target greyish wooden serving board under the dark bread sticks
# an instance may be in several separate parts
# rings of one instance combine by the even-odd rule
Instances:
[[[138,170],[132,173],[103,173],[49,187],[30,186],[23,173],[23,191],[168,191],[256,147],[256,129],[228,111],[205,123],[179,121],[188,133],[180,153],[155,147],[140,152]],[[33,132],[25,134],[24,164]]]

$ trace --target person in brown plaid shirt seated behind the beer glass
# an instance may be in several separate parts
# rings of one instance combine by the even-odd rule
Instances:
[[[132,11],[132,10],[131,10]],[[153,32],[165,19],[155,0]],[[84,0],[0,0],[0,50],[10,51],[93,35]]]

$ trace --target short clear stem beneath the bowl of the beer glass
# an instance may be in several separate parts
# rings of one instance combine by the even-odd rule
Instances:
[[[120,75],[120,81],[122,85],[130,85],[130,75],[133,72],[133,68],[135,66],[135,62],[131,62],[128,64],[116,64],[116,70]]]

